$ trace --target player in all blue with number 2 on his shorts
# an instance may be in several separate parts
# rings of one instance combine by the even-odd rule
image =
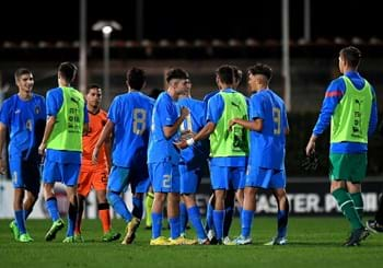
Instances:
[[[155,102],[148,149],[149,175],[154,191],[152,207],[152,238],[150,245],[195,244],[197,241],[181,236],[179,231],[179,152],[174,142],[179,139],[179,126],[189,110],[175,102],[184,94],[188,73],[183,69],[166,72],[167,90]],[[178,112],[181,115],[178,115]],[[167,220],[171,238],[161,236],[162,210],[167,197]]]

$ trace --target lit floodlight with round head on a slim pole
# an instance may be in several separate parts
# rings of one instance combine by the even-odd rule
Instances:
[[[121,25],[116,21],[98,21],[93,24],[93,31],[101,31],[104,37],[104,93],[105,101],[109,102],[109,47],[111,47],[111,35],[113,31],[123,30]]]

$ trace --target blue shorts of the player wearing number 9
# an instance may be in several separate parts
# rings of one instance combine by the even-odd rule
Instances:
[[[282,189],[286,187],[285,170],[247,166],[246,187],[264,189]]]

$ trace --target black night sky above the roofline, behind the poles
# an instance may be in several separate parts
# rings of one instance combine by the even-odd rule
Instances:
[[[280,38],[280,0],[144,0],[144,38]],[[291,37],[303,35],[303,0],[290,0]],[[312,0],[312,37],[383,37],[378,0]],[[79,38],[78,0],[3,0],[0,42]],[[123,25],[113,38],[135,39],[135,0],[88,0],[89,28],[98,20]],[[89,39],[101,39],[89,31]]]

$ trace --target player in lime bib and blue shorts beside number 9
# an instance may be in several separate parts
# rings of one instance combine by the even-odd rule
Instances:
[[[247,119],[246,98],[233,90],[234,73],[231,66],[218,68],[216,81],[220,92],[208,102],[207,124],[194,138],[177,142],[177,147],[184,149],[210,136],[210,178],[216,198],[212,214],[219,244],[223,243],[225,193],[230,188],[236,190],[240,187],[245,176],[248,154],[247,131],[241,126],[236,126],[234,131],[229,131],[231,119]]]

